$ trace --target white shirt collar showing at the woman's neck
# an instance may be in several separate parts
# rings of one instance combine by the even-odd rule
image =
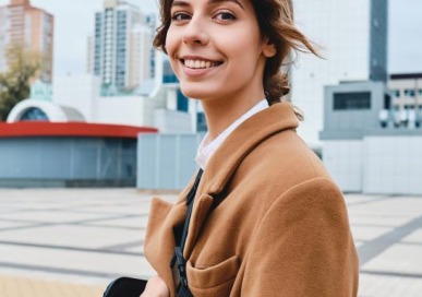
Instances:
[[[197,147],[197,153],[195,158],[196,164],[204,170],[210,157],[218,150],[218,147],[220,147],[221,143],[231,134],[231,132],[233,132],[236,128],[238,128],[242,122],[248,120],[250,117],[252,117],[256,112],[260,112],[261,110],[264,110],[267,107],[268,107],[268,102],[266,99],[261,100],[250,110],[248,110],[243,116],[241,116],[239,119],[233,121],[225,131],[222,131],[221,134],[219,134],[215,140],[213,140],[207,145],[205,145],[208,139],[208,133],[206,133],[200,146]]]

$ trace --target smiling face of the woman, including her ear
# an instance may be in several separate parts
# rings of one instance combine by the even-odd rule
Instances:
[[[265,57],[275,52],[250,0],[174,0],[171,19],[166,49],[186,96],[263,94]]]

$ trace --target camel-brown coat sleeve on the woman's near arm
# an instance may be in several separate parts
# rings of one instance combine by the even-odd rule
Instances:
[[[345,200],[325,178],[279,197],[251,245],[242,296],[358,295],[359,260]]]

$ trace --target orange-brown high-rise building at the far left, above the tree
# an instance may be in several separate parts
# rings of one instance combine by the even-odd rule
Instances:
[[[29,0],[11,0],[0,7],[0,71],[8,69],[7,50],[23,47],[43,59],[39,78],[52,78],[55,17],[45,10],[34,8]]]

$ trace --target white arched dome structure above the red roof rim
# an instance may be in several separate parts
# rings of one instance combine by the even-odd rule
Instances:
[[[84,116],[76,109],[60,106],[50,102],[25,99],[16,104],[10,111],[7,121],[85,121]]]

